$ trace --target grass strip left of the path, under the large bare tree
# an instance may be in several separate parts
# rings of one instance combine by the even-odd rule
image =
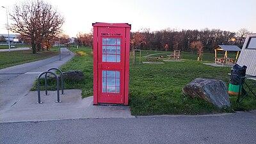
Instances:
[[[58,52],[44,51],[32,54],[31,50],[0,52],[0,68],[11,67],[22,63],[42,60],[57,55]]]

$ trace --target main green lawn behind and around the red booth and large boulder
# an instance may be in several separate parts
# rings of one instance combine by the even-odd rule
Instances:
[[[65,88],[80,88],[83,91],[83,97],[92,96],[92,49],[90,47],[82,47],[76,51],[84,51],[86,55],[75,56],[67,64],[63,65],[61,70],[82,70],[85,79],[79,83],[65,81]],[[150,52],[151,54],[153,53],[153,51]],[[148,52],[143,51],[143,55],[147,54]],[[142,60],[145,61],[145,57]],[[184,62],[164,61],[163,65],[130,65],[129,105],[132,115],[196,115],[256,108],[256,98],[252,97],[252,95],[244,99],[242,104],[236,104],[236,97],[231,97],[232,107],[230,109],[217,109],[204,100],[190,99],[182,95],[183,86],[197,77],[222,79],[228,84],[230,67],[211,67],[195,60],[196,55],[191,55],[187,56]],[[54,89],[53,86],[51,88]]]

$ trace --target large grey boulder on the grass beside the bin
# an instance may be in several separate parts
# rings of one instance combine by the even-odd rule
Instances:
[[[218,108],[230,107],[229,95],[225,82],[218,79],[197,78],[183,88],[189,97],[207,100]]]

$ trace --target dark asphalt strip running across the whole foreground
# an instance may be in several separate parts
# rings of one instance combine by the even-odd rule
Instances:
[[[0,143],[256,143],[256,111],[0,124]]]

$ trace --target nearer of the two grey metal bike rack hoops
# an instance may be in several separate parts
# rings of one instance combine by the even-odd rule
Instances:
[[[42,72],[41,74],[39,74],[39,76],[37,77],[37,96],[38,96],[38,104],[41,104],[41,96],[40,96],[40,77],[43,76],[44,74],[52,74],[55,76],[56,78],[56,83],[57,83],[57,102],[60,102],[60,88],[59,88],[59,78],[58,76],[54,73],[54,72]],[[46,89],[45,89],[46,90]]]

